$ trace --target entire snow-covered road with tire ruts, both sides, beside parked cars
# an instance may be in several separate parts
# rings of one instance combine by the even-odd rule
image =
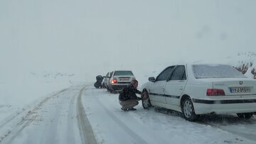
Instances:
[[[121,111],[118,94],[75,85],[0,123],[0,143],[256,143],[256,119],[206,116],[197,123],[170,111]]]

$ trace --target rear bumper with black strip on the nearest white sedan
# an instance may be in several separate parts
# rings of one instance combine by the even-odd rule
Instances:
[[[193,99],[196,114],[256,112],[254,99]]]

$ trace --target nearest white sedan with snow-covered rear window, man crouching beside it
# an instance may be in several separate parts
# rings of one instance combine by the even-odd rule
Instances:
[[[200,114],[237,113],[251,118],[256,112],[256,79],[230,65],[172,65],[142,85],[149,106],[179,111],[188,121]]]

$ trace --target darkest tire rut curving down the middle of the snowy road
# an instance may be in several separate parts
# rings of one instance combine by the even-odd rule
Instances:
[[[78,101],[77,101],[78,127],[80,130],[82,143],[97,144],[95,135],[93,134],[93,131],[92,131],[92,127],[90,126],[90,123],[85,114],[85,109],[82,106],[82,91],[84,89],[85,87],[80,90],[80,93],[78,95]]]

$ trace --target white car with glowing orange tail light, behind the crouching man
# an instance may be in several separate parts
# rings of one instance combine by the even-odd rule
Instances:
[[[120,92],[135,79],[131,70],[115,70],[110,72],[110,92]]]

